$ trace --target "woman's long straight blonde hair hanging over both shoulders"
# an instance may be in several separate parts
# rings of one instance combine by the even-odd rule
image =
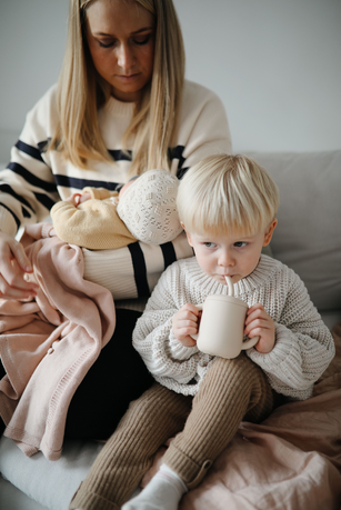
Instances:
[[[93,1],[70,0],[67,49],[58,83],[59,126],[50,144],[80,168],[88,168],[88,160],[112,162],[98,123],[98,109],[108,101],[111,88],[97,72],[86,39],[87,9]],[[130,173],[139,174],[170,168],[169,148],[181,108],[184,49],[172,0],[132,1],[150,11],[156,22],[152,79],[136,103],[122,139],[127,151],[134,136]]]

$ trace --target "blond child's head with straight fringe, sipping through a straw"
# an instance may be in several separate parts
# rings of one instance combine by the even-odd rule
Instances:
[[[211,156],[180,181],[177,207],[198,263],[224,283],[250,274],[277,224],[278,188],[244,156]]]

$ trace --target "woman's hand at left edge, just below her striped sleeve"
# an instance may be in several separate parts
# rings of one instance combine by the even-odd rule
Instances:
[[[28,299],[36,296],[38,286],[24,279],[26,273],[32,271],[20,242],[0,232],[0,298]]]

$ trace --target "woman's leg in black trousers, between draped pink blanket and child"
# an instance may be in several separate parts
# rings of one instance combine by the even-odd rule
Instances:
[[[153,383],[152,376],[132,347],[132,331],[140,316],[133,310],[117,310],[112,339],[71,400],[66,438],[108,439],[129,403]]]

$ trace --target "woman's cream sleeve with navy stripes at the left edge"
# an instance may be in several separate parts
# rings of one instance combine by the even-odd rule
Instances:
[[[59,200],[44,147],[47,119],[56,110],[54,88],[28,113],[11,160],[0,171],[0,230],[14,236],[21,224],[42,221]]]

